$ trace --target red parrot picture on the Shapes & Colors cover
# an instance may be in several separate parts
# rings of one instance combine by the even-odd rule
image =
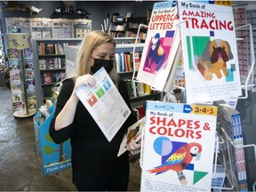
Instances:
[[[188,167],[193,157],[196,157],[196,160],[200,158],[201,151],[202,146],[199,143],[188,143],[172,153],[172,155],[166,159],[164,164],[161,164],[152,170],[148,170],[148,172],[156,173],[157,175],[168,170],[176,171],[180,182],[182,184],[187,184],[187,180],[182,171]]]

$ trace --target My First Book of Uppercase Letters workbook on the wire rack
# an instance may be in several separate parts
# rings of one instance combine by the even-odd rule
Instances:
[[[137,79],[159,91],[164,90],[180,44],[178,23],[177,6],[172,1],[154,4]]]

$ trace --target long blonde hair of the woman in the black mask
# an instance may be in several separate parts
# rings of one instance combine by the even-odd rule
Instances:
[[[113,43],[116,47],[116,43],[112,36],[100,30],[94,30],[84,37],[81,47],[77,53],[76,58],[76,74],[75,77],[83,76],[84,74],[91,73],[92,61],[90,60],[92,51],[100,44]],[[109,76],[113,80],[114,84],[118,84],[118,76],[116,74],[116,60],[114,60],[114,68],[109,73]]]

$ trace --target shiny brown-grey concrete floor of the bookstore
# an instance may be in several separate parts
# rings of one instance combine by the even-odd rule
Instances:
[[[140,190],[139,160],[131,162],[129,191]],[[71,168],[44,175],[36,154],[33,117],[12,115],[11,91],[0,87],[0,190],[75,191]]]

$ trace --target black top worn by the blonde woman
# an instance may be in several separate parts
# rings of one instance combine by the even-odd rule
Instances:
[[[117,153],[127,128],[136,122],[134,116],[129,116],[115,137],[108,142],[100,127],[93,120],[81,101],[76,107],[76,115],[72,124],[55,131],[54,124],[56,116],[60,113],[68,101],[74,89],[73,80],[67,79],[63,82],[57,100],[55,114],[50,125],[50,135],[55,143],[59,144],[70,138],[73,169],[78,172],[90,174],[92,176],[109,177],[116,172],[120,172],[129,165],[128,153],[117,157]],[[123,81],[120,81],[119,92],[125,102],[130,107],[128,94]]]

